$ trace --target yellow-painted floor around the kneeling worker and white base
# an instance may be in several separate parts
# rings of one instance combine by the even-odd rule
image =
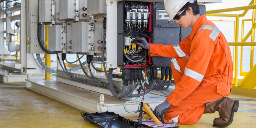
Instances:
[[[230,95],[240,100],[239,111],[229,128],[256,127],[256,97]],[[80,115],[84,111],[50,99],[28,89],[25,84],[0,83],[1,128],[95,128]],[[211,128],[218,113],[204,114],[197,124],[181,128]],[[137,119],[137,116],[128,116]]]

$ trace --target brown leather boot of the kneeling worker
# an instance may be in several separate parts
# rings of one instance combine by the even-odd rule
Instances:
[[[238,106],[238,100],[223,97],[216,101],[206,103],[204,113],[214,113],[215,111],[219,111],[220,117],[213,120],[213,126],[223,128],[232,123],[234,112],[237,112]]]

